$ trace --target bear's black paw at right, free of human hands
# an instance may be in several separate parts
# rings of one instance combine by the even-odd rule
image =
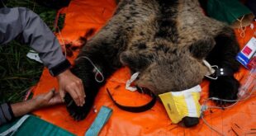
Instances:
[[[236,100],[239,89],[239,82],[233,76],[218,77],[210,82],[209,97],[216,97],[224,100]],[[218,101],[216,104],[222,106],[232,101]],[[235,102],[235,101],[234,101]]]

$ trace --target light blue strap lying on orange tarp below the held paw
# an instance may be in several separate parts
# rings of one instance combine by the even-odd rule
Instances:
[[[107,123],[107,120],[109,120],[111,114],[112,110],[110,108],[108,108],[107,106],[102,106],[100,112],[97,114],[96,119],[92,122],[92,125],[84,135],[97,136],[101,131],[103,125]]]

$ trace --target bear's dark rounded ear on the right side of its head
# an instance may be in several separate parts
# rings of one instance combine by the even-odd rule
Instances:
[[[192,56],[197,59],[206,58],[206,56],[211,52],[211,49],[216,45],[216,41],[212,38],[205,38],[202,40],[195,41],[189,46],[189,51]]]

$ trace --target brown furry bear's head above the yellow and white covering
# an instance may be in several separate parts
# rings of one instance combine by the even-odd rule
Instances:
[[[135,84],[153,91],[157,96],[200,84],[208,73],[203,59],[195,58],[189,49],[175,49],[174,52],[125,51],[121,54],[121,63],[133,73],[140,72]]]

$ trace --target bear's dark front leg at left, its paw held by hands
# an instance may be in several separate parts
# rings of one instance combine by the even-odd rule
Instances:
[[[101,35],[102,33],[106,35]],[[115,34],[117,33],[120,34],[117,30],[110,32],[108,29],[103,29],[83,46],[75,60],[71,71],[83,81],[86,95],[85,104],[82,107],[76,106],[68,93],[65,96],[69,114],[75,120],[83,120],[88,115],[97,96],[97,91],[104,85],[107,77],[121,67],[117,53],[121,52],[120,49],[122,48],[114,46],[123,43],[123,41],[121,38],[116,39],[117,35]]]

